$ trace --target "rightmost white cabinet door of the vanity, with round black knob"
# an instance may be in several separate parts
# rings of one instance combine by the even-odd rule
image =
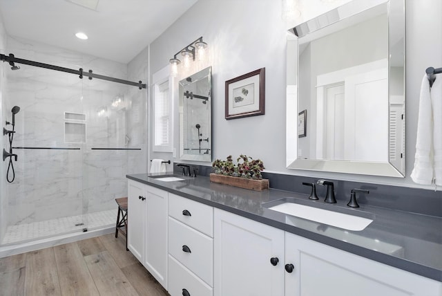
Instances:
[[[441,283],[295,234],[286,234],[286,296],[436,296]],[[301,265],[302,264],[302,265]]]

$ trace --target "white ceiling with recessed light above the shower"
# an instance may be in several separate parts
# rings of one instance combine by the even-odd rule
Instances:
[[[127,64],[198,0],[71,1],[0,0],[6,33]]]

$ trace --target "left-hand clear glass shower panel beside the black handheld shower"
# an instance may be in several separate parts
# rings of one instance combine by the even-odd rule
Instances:
[[[68,73],[26,65],[6,76],[3,107],[20,110],[12,142],[15,179],[6,183],[8,226],[1,245],[82,231],[80,82]]]

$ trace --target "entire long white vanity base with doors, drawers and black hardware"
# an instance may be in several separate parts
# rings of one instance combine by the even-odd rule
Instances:
[[[128,249],[171,296],[442,296],[442,283],[128,181]]]

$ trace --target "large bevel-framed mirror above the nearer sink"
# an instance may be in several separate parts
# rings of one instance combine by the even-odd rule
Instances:
[[[404,0],[354,0],[289,30],[289,169],[404,177],[404,116]]]

